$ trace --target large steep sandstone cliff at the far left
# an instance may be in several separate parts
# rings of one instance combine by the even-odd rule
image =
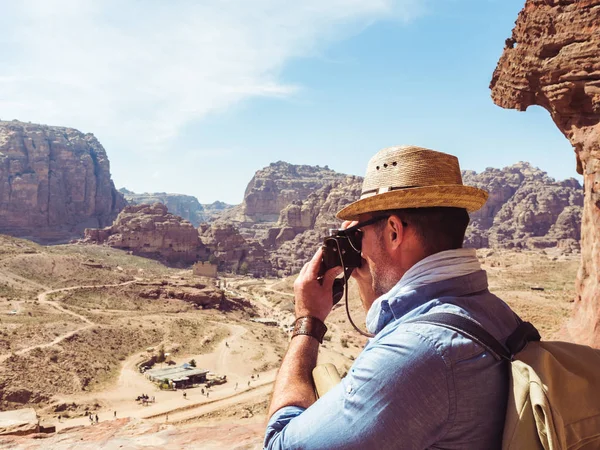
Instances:
[[[124,206],[92,134],[0,121],[0,232],[64,241],[109,225]]]

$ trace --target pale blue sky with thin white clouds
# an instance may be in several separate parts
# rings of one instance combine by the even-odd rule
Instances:
[[[524,0],[0,0],[0,118],[93,133],[117,188],[240,203],[275,161],[364,175],[412,144],[578,178],[489,82]]]

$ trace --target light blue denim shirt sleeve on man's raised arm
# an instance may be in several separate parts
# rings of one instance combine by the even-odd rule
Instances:
[[[342,382],[310,408],[277,411],[264,447],[427,448],[451,426],[453,393],[451,366],[435,343],[396,329],[375,338]]]

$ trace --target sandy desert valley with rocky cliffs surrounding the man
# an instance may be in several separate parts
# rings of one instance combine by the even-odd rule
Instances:
[[[462,177],[489,192],[465,246],[490,290],[544,340],[600,347],[591,3],[527,0],[490,86],[499,106],[549,111],[583,183],[526,161]],[[0,121],[1,448],[262,448],[294,279],[362,178],[285,161],[254,170],[237,205],[136,193],[115,187],[93,134]],[[364,324],[352,280],[348,302]],[[328,326],[319,362],[343,376],[367,341],[343,302]]]

